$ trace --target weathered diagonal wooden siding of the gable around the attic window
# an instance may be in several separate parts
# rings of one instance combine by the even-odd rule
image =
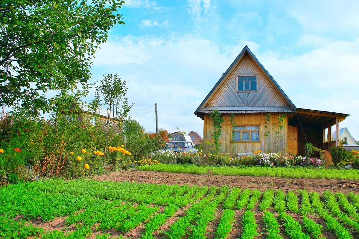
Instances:
[[[258,92],[236,92],[238,75],[257,75]],[[205,107],[235,106],[288,106],[274,84],[247,53],[205,105]]]

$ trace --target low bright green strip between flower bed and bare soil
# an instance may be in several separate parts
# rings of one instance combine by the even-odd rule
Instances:
[[[155,164],[150,166],[139,166],[139,170],[170,172],[170,173],[192,173],[235,176],[269,176],[283,178],[318,178],[318,179],[342,179],[359,180],[358,169],[323,169],[306,167],[216,167],[197,166],[194,164]]]

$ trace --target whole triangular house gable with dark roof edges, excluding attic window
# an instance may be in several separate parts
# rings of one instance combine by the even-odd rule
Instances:
[[[237,77],[241,75],[256,75],[257,90],[238,92]],[[197,108],[195,114],[207,113],[206,111],[215,109],[268,112],[270,111],[268,107],[273,107],[273,110],[276,110],[274,112],[295,110],[293,102],[246,46]]]

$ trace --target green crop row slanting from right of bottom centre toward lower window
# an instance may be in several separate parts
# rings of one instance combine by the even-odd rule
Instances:
[[[215,199],[210,202],[208,206],[206,206],[201,212],[200,215],[196,219],[196,224],[192,225],[191,231],[192,235],[189,237],[190,239],[205,239],[207,225],[210,221],[215,219],[215,211],[217,210],[220,202],[223,201],[227,192],[229,191],[228,186],[223,186],[220,188],[220,194],[215,197]]]

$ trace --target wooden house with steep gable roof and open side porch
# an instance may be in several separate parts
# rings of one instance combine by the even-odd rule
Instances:
[[[339,130],[339,122],[349,116],[297,108],[247,46],[194,113],[204,120],[206,142],[215,130],[209,118],[214,110],[223,119],[219,137],[222,153],[233,154],[258,150],[303,154],[306,142],[328,149],[339,145],[339,140],[326,143],[326,128],[331,135],[331,126]],[[204,144],[204,152],[209,152],[209,147]]]

